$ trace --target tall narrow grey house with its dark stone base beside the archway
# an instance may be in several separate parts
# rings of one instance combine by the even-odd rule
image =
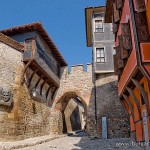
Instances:
[[[119,102],[118,77],[114,73],[112,24],[104,23],[104,16],[103,6],[85,8],[86,42],[92,47],[94,83],[87,129],[93,131],[95,125],[102,138],[128,137],[128,116]],[[95,112],[95,117],[91,112]]]

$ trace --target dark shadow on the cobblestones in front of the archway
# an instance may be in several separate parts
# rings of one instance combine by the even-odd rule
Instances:
[[[76,148],[71,150],[144,150],[138,145],[132,145],[133,143],[129,138],[91,139],[85,132],[70,137],[81,137],[81,140],[74,144]]]

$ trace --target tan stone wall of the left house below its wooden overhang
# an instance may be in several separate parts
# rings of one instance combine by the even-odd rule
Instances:
[[[50,132],[50,94],[45,98],[48,85],[45,84],[39,99],[31,95],[32,88],[39,78],[34,75],[28,86],[28,77],[32,73],[27,69],[24,81],[24,64],[21,52],[0,43],[0,87],[9,89],[12,94],[10,106],[0,105],[0,140],[20,140],[29,137],[46,135]],[[42,81],[41,81],[42,82]],[[22,84],[23,83],[23,84]],[[37,89],[40,88],[38,84]],[[1,100],[1,99],[0,99]]]

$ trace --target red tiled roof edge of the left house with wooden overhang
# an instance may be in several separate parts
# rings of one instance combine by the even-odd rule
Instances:
[[[44,41],[52,50],[54,57],[60,63],[60,65],[67,66],[66,61],[64,60],[59,50],[57,49],[52,39],[49,37],[48,33],[46,32],[46,30],[44,29],[43,25],[40,22],[35,22],[31,24],[8,28],[5,30],[1,30],[0,32],[7,36],[12,36],[12,35],[21,34],[21,33],[30,32],[30,31],[38,31],[38,33],[42,36]]]

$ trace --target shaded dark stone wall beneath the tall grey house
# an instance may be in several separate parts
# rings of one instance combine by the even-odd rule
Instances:
[[[96,110],[97,110],[97,133],[102,137],[102,117],[107,118],[108,138],[129,137],[129,120],[122,107],[117,93],[118,79],[113,73],[96,75]],[[95,135],[93,126],[95,126],[95,97],[89,104],[87,129],[88,132]]]

